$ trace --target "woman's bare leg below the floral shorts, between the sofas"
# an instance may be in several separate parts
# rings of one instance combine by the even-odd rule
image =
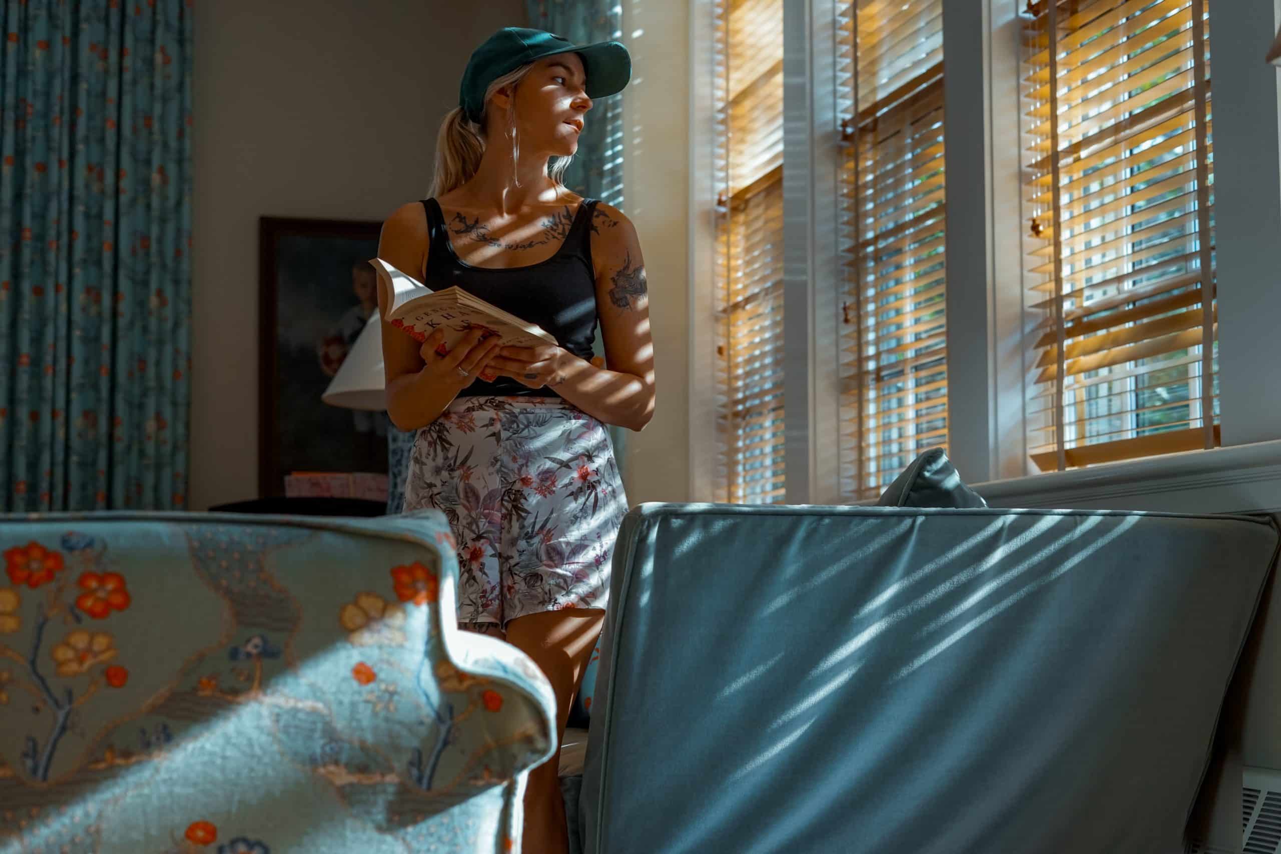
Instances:
[[[507,624],[507,643],[533,658],[556,691],[556,754],[530,772],[525,790],[523,850],[526,854],[565,854],[569,850],[557,773],[560,743],[565,737],[570,702],[603,622],[605,611],[600,608],[569,608],[530,613]]]

